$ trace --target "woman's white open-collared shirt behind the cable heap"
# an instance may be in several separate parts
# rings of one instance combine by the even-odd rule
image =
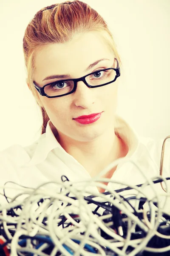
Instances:
[[[116,116],[115,134],[119,134],[129,147],[125,158],[135,161],[147,177],[159,175],[163,140],[155,141],[151,138],[139,137],[120,116]],[[170,157],[168,158],[170,143],[167,144],[169,145],[165,147],[164,177],[170,177]],[[71,181],[90,179],[87,170],[58,143],[49,122],[45,134],[42,134],[32,145],[26,147],[13,145],[0,152],[0,169],[0,187],[7,181],[37,187],[51,180],[60,181],[62,175],[67,176]],[[130,162],[120,163],[111,179],[133,185],[146,181],[136,166]],[[108,186],[114,186],[114,189],[122,187],[120,184],[110,183]],[[163,192],[160,184],[155,186]]]

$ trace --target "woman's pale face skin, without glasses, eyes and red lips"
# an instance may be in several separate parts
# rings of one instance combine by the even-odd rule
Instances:
[[[114,67],[114,58],[100,32],[86,32],[74,36],[67,43],[49,44],[37,51],[33,80],[42,87],[61,80],[46,79],[48,76],[68,75],[69,79],[76,79],[99,69]],[[105,60],[99,61],[101,59]],[[96,61],[96,65],[85,71]],[[79,81],[74,93],[58,98],[39,96],[40,102],[59,136],[92,141],[107,133],[111,126],[114,128],[118,82],[119,78],[111,84],[89,88],[83,81]],[[93,113],[102,113],[96,122],[82,124],[75,120],[79,116]]]

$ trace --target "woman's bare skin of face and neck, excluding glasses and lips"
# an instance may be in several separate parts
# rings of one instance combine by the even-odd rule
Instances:
[[[90,64],[102,58],[109,60],[99,62],[85,72]],[[37,51],[33,80],[42,87],[61,80],[42,81],[50,75],[69,74],[70,78],[79,78],[100,68],[113,67],[114,58],[100,32],[86,32],[67,43],[49,44]],[[84,166],[91,177],[128,151],[127,145],[114,133],[119,80],[98,88],[88,88],[79,81],[76,92],[70,95],[51,99],[39,96],[40,105],[56,128],[54,135],[60,145]],[[92,124],[82,125],[74,120],[78,116],[100,112],[100,119]],[[105,177],[111,177],[114,170]]]

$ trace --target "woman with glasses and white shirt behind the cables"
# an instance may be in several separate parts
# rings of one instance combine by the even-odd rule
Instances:
[[[116,115],[121,61],[94,9],[79,0],[41,9],[26,28],[23,50],[28,87],[42,111],[42,135],[33,145],[1,153],[2,186],[11,180],[34,187],[61,175],[85,180],[120,157],[136,161],[147,177],[159,175],[162,142],[139,138]],[[105,177],[145,181],[132,163]]]

